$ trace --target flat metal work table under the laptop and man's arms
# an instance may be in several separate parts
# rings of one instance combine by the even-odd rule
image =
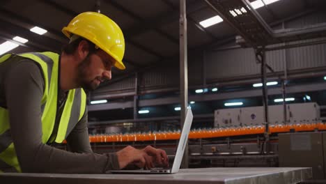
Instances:
[[[178,174],[16,174],[1,173],[0,183],[300,183],[312,178],[306,167],[219,167],[180,169]]]

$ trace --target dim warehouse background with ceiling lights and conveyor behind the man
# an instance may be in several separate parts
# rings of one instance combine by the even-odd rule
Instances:
[[[0,53],[60,53],[63,26],[100,12],[121,26],[126,69],[87,92],[94,152],[152,145],[172,162],[187,99],[184,168],[311,167],[293,183],[326,183],[325,9],[323,0],[4,0]]]

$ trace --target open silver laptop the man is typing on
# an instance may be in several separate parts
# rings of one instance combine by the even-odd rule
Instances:
[[[180,141],[176,151],[176,157],[173,160],[172,167],[169,169],[165,168],[153,168],[153,169],[137,169],[137,170],[110,170],[107,173],[113,174],[175,174],[180,169],[181,161],[183,160],[183,153],[185,153],[185,146],[188,140],[190,127],[192,126],[192,109],[187,108],[187,114],[185,117],[185,123],[183,124],[183,130],[181,132]]]

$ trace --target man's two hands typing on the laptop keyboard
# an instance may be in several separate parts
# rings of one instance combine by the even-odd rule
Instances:
[[[116,155],[118,155],[120,169],[123,169],[128,164],[134,164],[144,169],[153,168],[154,164],[163,166],[168,166],[169,164],[165,151],[153,148],[152,146],[146,146],[146,148],[141,150],[127,146],[121,151],[116,152]]]

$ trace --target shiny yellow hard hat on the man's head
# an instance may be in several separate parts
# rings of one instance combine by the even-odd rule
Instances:
[[[85,12],[77,15],[62,32],[70,38],[72,34],[86,38],[100,47],[116,60],[114,66],[125,69],[123,55],[125,54],[125,38],[116,22],[109,17],[95,12]]]

